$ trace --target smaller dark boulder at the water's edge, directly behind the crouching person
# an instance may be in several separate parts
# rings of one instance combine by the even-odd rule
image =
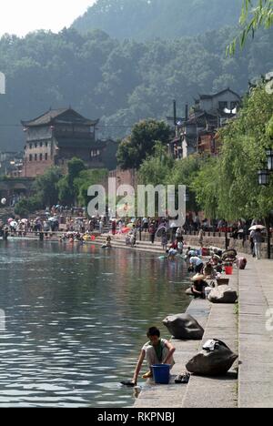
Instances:
[[[177,340],[201,340],[204,330],[193,317],[188,314],[170,315],[163,324]]]

